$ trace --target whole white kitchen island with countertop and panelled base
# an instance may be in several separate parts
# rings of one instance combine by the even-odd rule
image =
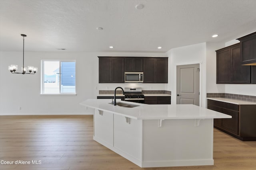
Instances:
[[[195,105],[121,107],[110,99],[80,104],[94,109],[93,139],[140,167],[213,165],[213,119],[231,118]]]

